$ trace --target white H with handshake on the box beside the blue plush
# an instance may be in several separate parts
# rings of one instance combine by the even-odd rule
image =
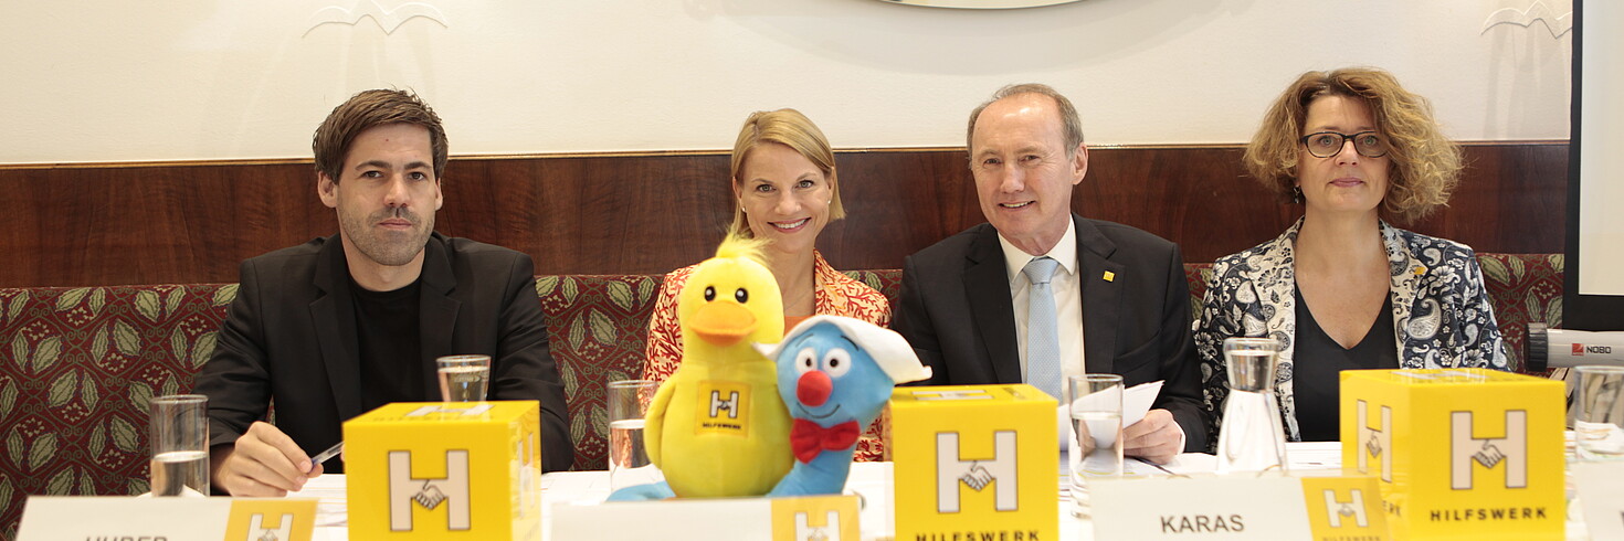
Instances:
[[[1020,509],[1015,479],[1015,431],[992,432],[992,457],[979,460],[960,458],[958,432],[939,432],[935,435],[935,510],[939,513],[958,512],[958,486],[965,484],[976,492],[994,487],[994,509],[1012,512]],[[997,481],[997,483],[994,483]]]

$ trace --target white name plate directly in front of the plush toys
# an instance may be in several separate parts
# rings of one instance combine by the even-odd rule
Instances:
[[[547,539],[862,539],[856,496],[557,504],[547,513]]]

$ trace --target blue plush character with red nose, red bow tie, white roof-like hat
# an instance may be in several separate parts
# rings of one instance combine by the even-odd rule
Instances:
[[[758,349],[778,364],[796,457],[768,496],[840,494],[857,435],[890,401],[892,387],[931,377],[901,335],[849,317],[809,317],[784,341]]]

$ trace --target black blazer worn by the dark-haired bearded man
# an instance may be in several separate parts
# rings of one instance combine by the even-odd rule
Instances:
[[[559,370],[529,257],[468,239],[429,237],[419,301],[424,401],[438,401],[434,359],[489,354],[490,400],[539,400],[542,468],[575,461]],[[195,390],[209,398],[209,445],[232,444],[276,401],[276,427],[315,455],[361,411],[349,265],[338,236],[242,262],[242,283]],[[343,463],[323,465],[341,473]]]

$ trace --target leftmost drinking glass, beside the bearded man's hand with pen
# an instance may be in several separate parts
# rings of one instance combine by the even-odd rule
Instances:
[[[208,496],[208,396],[153,398],[153,496]]]

